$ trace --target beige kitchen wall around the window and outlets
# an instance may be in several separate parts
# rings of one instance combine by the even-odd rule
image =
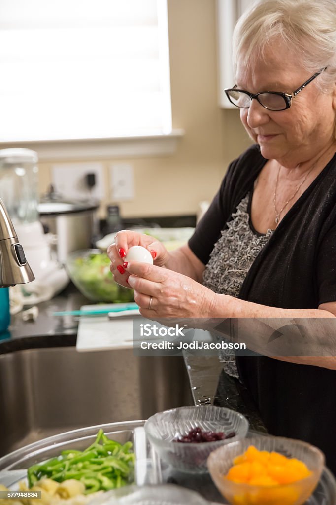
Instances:
[[[120,203],[124,217],[195,214],[199,201],[216,192],[228,163],[250,144],[238,110],[217,105],[215,0],[168,0],[168,8],[173,127],[185,136],[173,156],[123,159],[135,177],[134,200]],[[116,160],[97,161],[107,182],[108,165]],[[39,167],[44,192],[51,163]],[[100,216],[106,204],[118,203],[108,187]]]

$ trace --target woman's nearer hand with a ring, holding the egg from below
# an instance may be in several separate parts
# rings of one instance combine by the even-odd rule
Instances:
[[[157,319],[213,315],[215,293],[190,277],[138,262],[130,262],[126,270],[142,316]]]

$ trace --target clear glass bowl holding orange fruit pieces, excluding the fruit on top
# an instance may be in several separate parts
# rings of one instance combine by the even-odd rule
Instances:
[[[259,450],[276,451],[288,458],[303,461],[312,472],[309,477],[291,484],[254,486],[228,480],[225,475],[236,456],[254,445]],[[323,470],[324,455],[317,447],[301,440],[283,437],[254,437],[219,447],[208,458],[211,478],[220,493],[233,505],[302,505],[315,489]]]

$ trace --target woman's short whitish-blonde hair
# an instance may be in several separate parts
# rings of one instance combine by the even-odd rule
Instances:
[[[312,74],[327,67],[316,85],[330,90],[336,81],[336,0],[254,2],[234,30],[235,72],[238,60],[248,64],[253,56],[263,58],[267,44],[278,37]]]

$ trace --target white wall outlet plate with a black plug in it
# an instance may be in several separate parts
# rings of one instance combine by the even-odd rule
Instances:
[[[95,185],[89,188],[86,175],[95,174]],[[55,191],[67,198],[96,198],[105,196],[104,171],[101,163],[58,163],[52,165],[51,180]]]

